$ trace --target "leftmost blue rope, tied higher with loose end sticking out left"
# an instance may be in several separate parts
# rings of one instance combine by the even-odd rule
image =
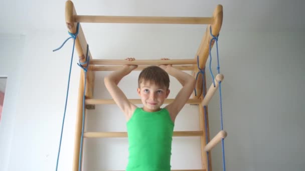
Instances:
[[[72,55],[71,55],[71,61],[70,61],[70,69],[69,69],[69,77],[68,77],[68,87],[67,87],[67,93],[66,93],[66,101],[65,101],[65,109],[64,109],[64,115],[63,115],[63,121],[62,121],[62,126],[61,126],[61,133],[60,133],[60,140],[59,140],[59,148],[58,148],[58,154],[57,154],[57,161],[56,161],[56,171],[58,169],[58,162],[59,162],[59,155],[60,155],[60,149],[61,149],[61,142],[62,142],[62,136],[63,136],[63,128],[64,128],[64,123],[65,123],[65,117],[66,117],[66,110],[67,110],[67,101],[68,101],[68,94],[69,94],[69,87],[70,87],[70,77],[71,77],[71,69],[72,69],[72,61],[73,61],[73,55],[74,55],[74,47],[75,47],[75,40],[78,34],[78,25],[77,23],[77,31],[76,33],[70,33],[71,37],[67,38],[64,43],[57,49],[53,50],[59,50],[70,38],[73,38],[73,48],[72,48]]]

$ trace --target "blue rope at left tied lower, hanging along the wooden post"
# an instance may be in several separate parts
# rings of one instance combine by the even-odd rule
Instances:
[[[82,159],[82,148],[83,148],[83,139],[84,139],[84,122],[85,122],[85,97],[86,97],[86,82],[87,82],[87,70],[89,66],[89,60],[90,56],[88,55],[89,52],[89,45],[87,44],[87,55],[86,55],[86,61],[77,63],[83,70],[85,74],[84,79],[84,92],[83,92],[83,120],[82,120],[82,133],[81,133],[81,139],[80,139],[80,152],[79,152],[79,160],[78,160],[78,170],[81,170],[81,159]],[[80,63],[87,64],[86,67],[82,66]]]

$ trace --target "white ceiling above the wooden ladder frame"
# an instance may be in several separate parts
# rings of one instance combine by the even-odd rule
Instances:
[[[226,30],[303,31],[305,0],[73,0],[81,15],[211,16],[224,10]],[[2,0],[0,33],[62,31],[65,0]],[[94,24],[92,24],[94,29]]]

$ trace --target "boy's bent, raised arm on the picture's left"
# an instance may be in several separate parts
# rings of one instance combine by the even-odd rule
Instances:
[[[104,78],[104,83],[112,96],[115,103],[124,112],[126,119],[128,120],[132,115],[132,111],[135,109],[135,105],[130,103],[123,91],[117,86],[119,81],[127,74],[129,74],[136,65],[124,65],[122,68],[110,73]]]

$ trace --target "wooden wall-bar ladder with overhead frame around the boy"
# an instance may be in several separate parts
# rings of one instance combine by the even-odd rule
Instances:
[[[66,1],[65,6],[65,17],[66,25],[69,32],[76,33],[77,23],[79,23],[78,35],[75,40],[75,48],[77,50],[80,62],[86,61],[86,51],[87,51],[87,41],[84,36],[80,22],[106,22],[106,23],[170,23],[170,24],[208,24],[205,34],[202,38],[198,51],[194,59],[172,59],[172,60],[111,60],[111,59],[92,59],[90,51],[88,55],[90,56],[90,63],[88,66],[87,76],[86,76],[86,90],[85,90],[85,104],[86,108],[93,107],[96,104],[114,104],[112,99],[93,99],[93,88],[94,88],[94,71],[109,71],[116,70],[121,67],[119,65],[123,64],[136,64],[138,67],[135,70],[142,70],[148,65],[159,65],[159,64],[173,64],[181,70],[192,70],[193,75],[199,72],[198,66],[204,68],[207,58],[209,56],[209,43],[212,39],[210,35],[210,26],[212,28],[212,34],[218,35],[222,25],[223,19],[223,8],[222,5],[217,5],[212,17],[163,17],[163,16],[89,16],[89,15],[77,15],[74,4],[71,0]],[[212,42],[212,46],[214,41]],[[199,57],[199,63],[197,63],[197,56]],[[197,66],[198,64],[198,66]],[[84,64],[83,66],[86,66]],[[74,144],[74,155],[73,155],[73,171],[79,170],[79,154],[81,145],[81,133],[82,133],[82,122],[83,122],[83,95],[84,95],[84,78],[85,72],[82,70],[80,74],[79,81],[79,92],[78,92],[78,107],[76,116],[76,132],[75,132],[75,144]],[[216,76],[216,79],[222,79],[222,75]],[[181,169],[183,170],[193,170],[193,171],[203,171],[208,170],[207,166],[209,164],[209,170],[211,171],[211,155],[207,156],[206,151],[210,151],[212,147],[220,141],[221,138],[226,136],[224,131],[217,134],[211,141],[209,138],[209,122],[208,117],[205,121],[203,105],[207,105],[208,101],[211,99],[217,87],[212,87],[208,90],[207,94],[202,93],[202,87],[206,88],[205,80],[202,77],[198,77],[196,83],[197,94],[193,94],[192,98],[188,100],[188,104],[199,104],[199,118],[200,118],[200,130],[197,131],[174,131],[174,136],[200,136],[201,139],[201,155],[202,155],[202,169]],[[215,81],[217,82],[217,81]],[[205,98],[204,98],[205,96]],[[134,104],[139,104],[140,99],[129,99]],[[173,99],[166,99],[165,103],[172,102]],[[208,114],[207,114],[208,115]],[[205,122],[207,125],[205,125]],[[207,131],[205,130],[207,127]],[[205,133],[207,132],[207,134]],[[92,137],[127,137],[126,132],[84,132],[84,138]],[[206,142],[206,137],[209,143]],[[208,159],[209,157],[209,159]],[[208,163],[209,161],[209,163]]]

